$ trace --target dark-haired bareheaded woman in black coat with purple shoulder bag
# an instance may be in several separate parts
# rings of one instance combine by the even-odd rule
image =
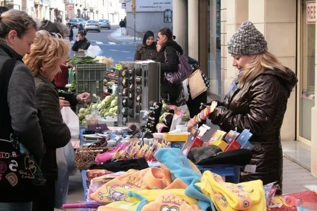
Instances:
[[[158,33],[159,51],[156,61],[160,62],[160,95],[168,99],[171,104],[176,104],[181,91],[181,84],[168,84],[164,73],[176,72],[178,69],[178,53],[183,54],[182,47],[177,44],[175,36],[169,28],[163,28]],[[166,55],[166,58],[165,58]]]

